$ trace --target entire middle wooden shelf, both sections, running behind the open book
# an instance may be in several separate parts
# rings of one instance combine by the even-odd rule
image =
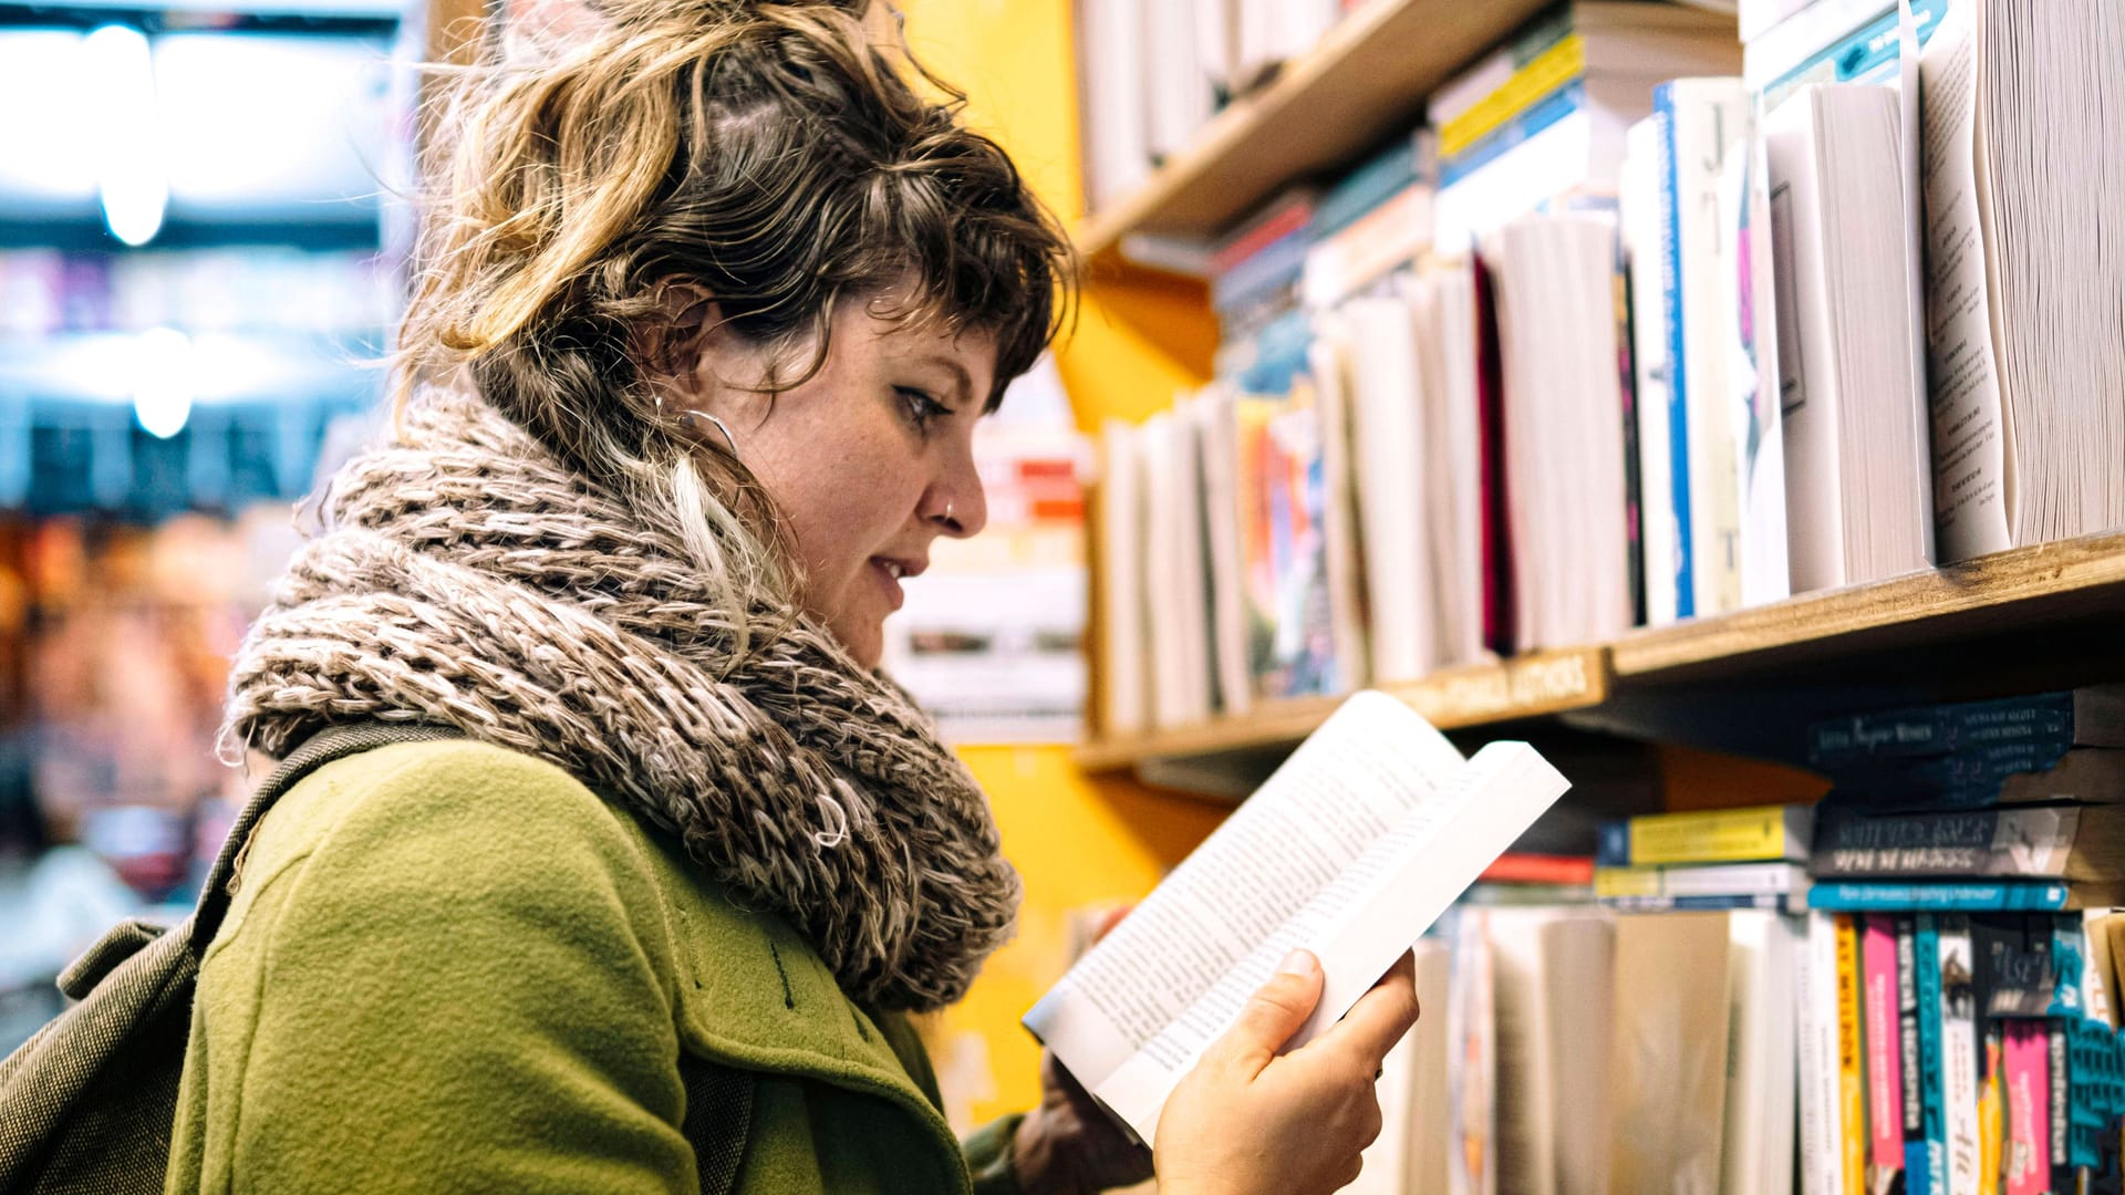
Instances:
[[[1998,649],[2002,638],[2029,663],[2051,659],[2063,666],[2095,646],[2087,634],[2063,634],[2076,625],[2112,627],[2108,638],[2125,632],[2125,532],[1636,629],[1613,644],[1451,668],[1381,689],[1441,729],[1556,714],[1628,729],[1643,712],[1640,697],[1679,680],[1696,685],[1702,700],[1704,685],[1745,683],[1768,672],[1806,678],[1849,668],[1855,657],[1889,670],[1898,668],[1898,659],[1938,666],[1976,640],[1991,640]],[[1296,744],[1334,706],[1337,700],[1328,697],[1286,702],[1245,719],[1099,740],[1077,751],[1077,763],[1088,772],[1114,772],[1154,761],[1264,753]]]

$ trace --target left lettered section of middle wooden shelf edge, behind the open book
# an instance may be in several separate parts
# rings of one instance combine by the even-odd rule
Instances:
[[[1609,700],[1611,678],[1609,649],[1583,646],[1447,668],[1424,680],[1377,685],[1377,689],[1392,693],[1439,729],[1462,729],[1598,706]],[[1077,746],[1073,757],[1084,772],[1120,772],[1148,759],[1292,746],[1313,734],[1341,704],[1343,697],[1294,697],[1239,719],[1092,740]]]

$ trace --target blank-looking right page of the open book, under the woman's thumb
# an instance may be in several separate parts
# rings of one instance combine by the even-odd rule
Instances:
[[[1173,1084],[1239,1016],[1277,963],[1313,950],[1324,984],[1298,1048],[1341,1021],[1394,959],[1566,789],[1564,776],[1524,742],[1494,742],[1430,800],[1320,887],[1290,919],[1190,1002],[1105,1080],[1088,1082],[1145,1142]],[[1069,1057],[1065,1057],[1069,1063]]]

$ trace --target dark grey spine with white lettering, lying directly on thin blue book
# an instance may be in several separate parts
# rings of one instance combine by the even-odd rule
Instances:
[[[2072,874],[2076,808],[1942,810],[1915,814],[1825,812],[1815,834],[1817,876],[2021,876]]]

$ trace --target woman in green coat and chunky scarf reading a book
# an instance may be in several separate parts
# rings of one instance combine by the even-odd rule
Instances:
[[[614,0],[468,79],[402,351],[236,663],[232,744],[434,723],[295,785],[200,976],[170,1191],[1094,1191],[1052,1065],[960,1146],[905,1012],[1018,902],[873,668],[1069,253],[863,4]],[[1326,1191],[1407,972],[1273,1057],[1296,957],[1173,1095],[1167,1191]],[[714,1172],[714,1174],[712,1174]]]

